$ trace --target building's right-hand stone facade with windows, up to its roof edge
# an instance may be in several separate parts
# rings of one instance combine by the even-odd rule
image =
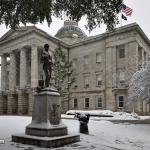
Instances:
[[[70,109],[149,114],[146,102],[133,105],[128,101],[130,79],[148,59],[149,46],[148,38],[136,24],[73,44],[69,56],[76,83],[71,89]]]

